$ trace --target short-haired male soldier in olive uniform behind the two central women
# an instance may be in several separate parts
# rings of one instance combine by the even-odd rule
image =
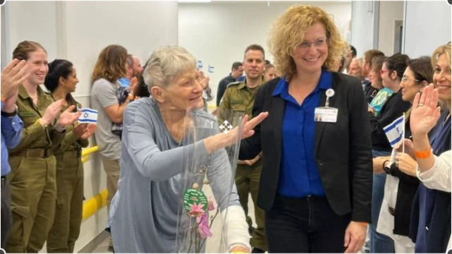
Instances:
[[[252,117],[256,90],[266,81],[263,76],[265,65],[265,52],[261,46],[252,44],[246,48],[243,63],[246,78],[242,82],[230,83],[227,86],[218,109],[219,124],[225,120],[225,109],[234,111],[234,114],[242,113],[247,114],[250,118]],[[239,161],[235,176],[240,204],[244,208],[246,215],[248,214],[249,193],[251,193],[251,198],[254,202],[257,228],[252,232],[251,238],[253,253],[263,253],[267,250],[264,234],[265,214],[256,205],[261,170],[262,160],[261,155],[258,155],[251,160]],[[246,220],[251,229],[251,219],[247,217]]]

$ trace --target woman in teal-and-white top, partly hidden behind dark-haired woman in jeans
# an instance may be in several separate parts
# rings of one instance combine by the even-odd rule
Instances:
[[[376,89],[376,95],[374,99],[372,99],[368,111],[373,112],[374,116],[378,116],[380,114],[381,107],[383,107],[386,100],[388,100],[388,98],[394,93],[393,90],[383,86],[381,74],[383,74],[384,71],[381,70],[381,68],[383,67],[384,59],[384,56],[374,57],[374,59],[372,59],[372,70],[369,73],[371,86]]]

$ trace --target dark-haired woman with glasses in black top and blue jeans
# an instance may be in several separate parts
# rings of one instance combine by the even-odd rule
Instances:
[[[404,54],[394,54],[383,62],[383,67],[381,68],[383,86],[393,90],[394,93],[386,100],[383,107],[381,107],[379,116],[374,116],[374,114],[369,112],[372,155],[374,158],[391,155],[392,147],[383,128],[398,119],[411,107],[410,102],[403,101],[402,90],[400,90],[400,80],[402,80],[403,73],[407,68],[408,59],[408,56]],[[374,164],[376,164],[375,161]],[[389,236],[385,236],[376,231],[376,226],[379,222],[381,202],[383,202],[385,182],[385,173],[374,174],[374,181],[372,184],[372,223],[370,224],[369,237],[371,253],[394,252],[393,240]]]

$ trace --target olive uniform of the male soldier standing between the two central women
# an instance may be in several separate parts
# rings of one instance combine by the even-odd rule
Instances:
[[[265,79],[262,77],[262,83]],[[218,109],[218,121],[222,123],[224,116],[222,116],[223,109],[230,109],[236,113],[247,114],[252,117],[254,97],[258,87],[249,88],[246,86],[246,79],[242,82],[230,83],[227,85],[225,94],[222,97]],[[237,186],[237,193],[239,195],[240,204],[244,208],[246,214],[246,221],[251,228],[251,218],[248,217],[248,196],[251,193],[251,198],[254,203],[254,215],[256,217],[257,228],[252,233],[251,246],[261,250],[267,250],[266,236],[264,234],[265,214],[261,208],[256,205],[257,195],[259,190],[259,181],[261,179],[262,159],[259,159],[253,165],[245,164],[237,165],[237,172],[235,176],[235,184]]]

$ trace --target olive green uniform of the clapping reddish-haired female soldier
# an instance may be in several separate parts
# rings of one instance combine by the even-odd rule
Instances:
[[[23,131],[20,144],[9,150],[13,225],[6,240],[7,253],[37,253],[54,222],[57,162],[52,145],[61,143],[66,131],[60,133],[38,122],[54,101],[39,86],[37,97],[35,105],[20,85],[16,104]]]

